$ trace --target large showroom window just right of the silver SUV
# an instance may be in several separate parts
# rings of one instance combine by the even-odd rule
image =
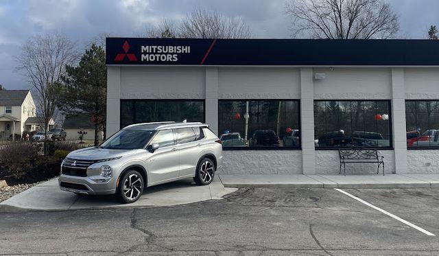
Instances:
[[[298,100],[219,100],[223,148],[300,148]]]

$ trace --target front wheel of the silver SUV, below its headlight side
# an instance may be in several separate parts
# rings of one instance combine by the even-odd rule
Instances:
[[[119,198],[124,203],[136,202],[143,193],[144,181],[142,175],[130,170],[119,182]]]

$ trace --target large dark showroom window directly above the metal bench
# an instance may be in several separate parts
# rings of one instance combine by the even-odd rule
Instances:
[[[391,148],[390,101],[314,101],[316,148]]]

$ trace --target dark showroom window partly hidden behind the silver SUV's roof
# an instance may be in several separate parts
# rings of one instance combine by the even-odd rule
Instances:
[[[121,100],[121,128],[184,119],[204,122],[204,100]]]

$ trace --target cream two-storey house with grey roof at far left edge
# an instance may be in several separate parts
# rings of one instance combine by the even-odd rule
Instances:
[[[29,123],[29,118],[34,122]],[[0,140],[36,130],[36,106],[29,90],[0,90]]]

